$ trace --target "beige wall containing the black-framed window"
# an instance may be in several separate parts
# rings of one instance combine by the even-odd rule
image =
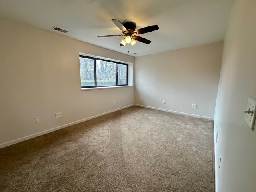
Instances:
[[[81,91],[79,52],[134,63],[132,56],[0,18],[0,144],[134,103],[134,87]]]

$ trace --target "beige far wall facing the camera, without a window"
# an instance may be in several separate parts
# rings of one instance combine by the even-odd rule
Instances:
[[[217,42],[135,58],[135,104],[213,118],[222,46]]]

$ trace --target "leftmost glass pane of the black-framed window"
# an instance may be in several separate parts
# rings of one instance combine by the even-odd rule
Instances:
[[[79,57],[80,59],[80,75],[81,75],[81,86],[95,86],[94,80],[94,60]]]

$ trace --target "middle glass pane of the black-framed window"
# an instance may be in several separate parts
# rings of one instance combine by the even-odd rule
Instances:
[[[97,86],[116,85],[116,63],[96,60]]]

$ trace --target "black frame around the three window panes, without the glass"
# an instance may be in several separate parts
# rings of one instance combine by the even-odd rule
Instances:
[[[82,86],[82,82],[81,82],[81,80],[80,80],[81,88],[115,87],[115,86],[127,86],[127,85],[128,85],[128,64],[127,64],[127,63],[121,63],[121,62],[116,62],[116,61],[111,61],[111,60],[106,60],[106,59],[100,59],[100,58],[95,58],[95,57],[90,57],[90,56],[84,56],[84,55],[79,55],[79,57],[94,60],[94,82],[95,82],[95,86]],[[115,64],[116,64],[116,85],[97,86],[96,60],[101,60],[101,61],[106,61],[106,62],[112,62],[112,63],[115,63]],[[117,67],[118,65],[117,65],[117,64],[126,65],[126,84],[124,84],[124,85],[118,85],[118,67]],[[79,62],[79,68],[80,68],[80,62]],[[81,72],[81,68],[80,68],[80,72]]]

